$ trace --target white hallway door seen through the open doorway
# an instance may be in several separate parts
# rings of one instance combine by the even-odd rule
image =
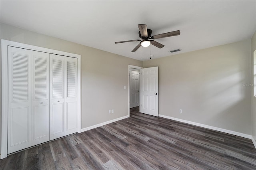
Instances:
[[[140,71],[130,71],[130,108],[140,105]]]

